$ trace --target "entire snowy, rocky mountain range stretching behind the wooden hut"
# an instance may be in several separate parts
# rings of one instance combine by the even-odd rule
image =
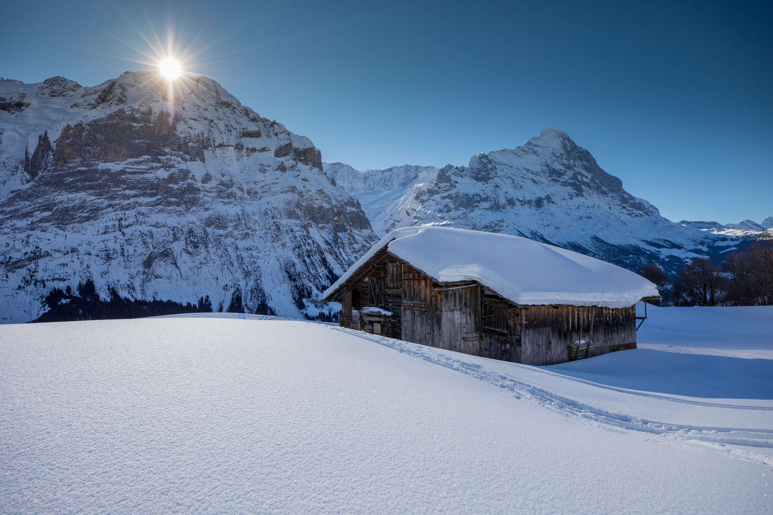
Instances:
[[[557,127],[468,166],[356,171],[206,76],[178,86],[155,72],[0,80],[0,321],[34,320],[53,289],[87,281],[102,299],[209,296],[214,310],[320,317],[335,310],[320,293],[376,233],[407,225],[523,235],[672,275],[773,228],[671,222]]]

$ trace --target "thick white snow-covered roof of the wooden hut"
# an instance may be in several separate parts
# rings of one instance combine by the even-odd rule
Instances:
[[[477,281],[521,306],[629,307],[659,296],[644,277],[601,259],[519,236],[432,225],[390,232],[323,295],[385,247],[438,283]]]

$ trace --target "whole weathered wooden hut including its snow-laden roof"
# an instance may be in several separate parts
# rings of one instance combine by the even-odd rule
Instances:
[[[485,246],[489,239],[493,248]],[[491,264],[492,259],[499,263]],[[564,265],[566,259],[571,266]],[[546,269],[535,273],[527,266]],[[519,285],[519,275],[528,278],[523,281],[531,281],[535,291],[539,288],[533,284],[539,286],[539,277],[547,277],[547,293],[530,294],[530,284]],[[574,280],[574,289],[550,293],[561,280]],[[608,286],[615,281],[624,284],[611,292],[595,291],[596,283]],[[599,299],[592,305],[567,303],[573,296],[587,303],[594,295]],[[652,283],[628,270],[530,239],[412,227],[386,235],[325,292],[325,300],[341,303],[342,327],[475,356],[547,365],[635,348],[635,302],[657,295]]]

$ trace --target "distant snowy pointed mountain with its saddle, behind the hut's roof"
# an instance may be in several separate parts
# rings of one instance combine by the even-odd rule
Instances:
[[[397,167],[406,172],[396,183],[384,178],[393,168],[324,168],[359,198],[380,234],[425,224],[505,232],[629,269],[654,261],[670,273],[695,256],[718,257],[744,244],[734,235],[663,218],[557,127],[521,147],[475,155],[466,167]]]

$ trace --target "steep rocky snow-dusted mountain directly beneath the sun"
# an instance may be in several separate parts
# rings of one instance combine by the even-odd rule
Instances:
[[[316,315],[376,236],[306,137],[218,83],[0,80],[0,320],[93,280],[140,300]]]

